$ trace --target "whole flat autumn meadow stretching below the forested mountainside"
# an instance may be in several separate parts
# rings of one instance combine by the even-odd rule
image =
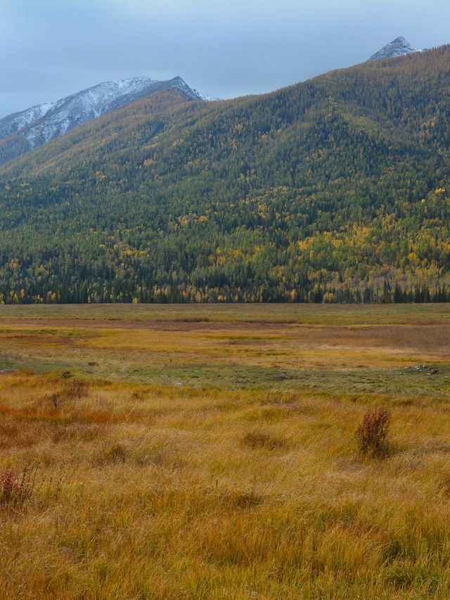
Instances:
[[[449,305],[3,306],[0,342],[1,599],[450,597]]]

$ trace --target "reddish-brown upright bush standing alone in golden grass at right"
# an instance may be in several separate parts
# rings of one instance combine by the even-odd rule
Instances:
[[[391,413],[383,407],[368,410],[356,430],[356,443],[361,454],[382,457],[387,454]]]

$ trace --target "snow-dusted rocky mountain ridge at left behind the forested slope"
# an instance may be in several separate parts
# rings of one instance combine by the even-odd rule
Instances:
[[[78,125],[165,89],[178,89],[188,101],[209,99],[188,87],[181,77],[163,82],[150,77],[104,82],[56,102],[33,106],[1,119],[0,161],[7,162]]]

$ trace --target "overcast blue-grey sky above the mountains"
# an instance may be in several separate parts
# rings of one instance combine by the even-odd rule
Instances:
[[[0,117],[108,79],[181,75],[210,96],[450,42],[450,0],[0,0]]]

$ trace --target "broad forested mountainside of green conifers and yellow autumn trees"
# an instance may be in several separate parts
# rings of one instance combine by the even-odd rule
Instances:
[[[450,300],[450,46],[160,91],[0,167],[0,301]]]

